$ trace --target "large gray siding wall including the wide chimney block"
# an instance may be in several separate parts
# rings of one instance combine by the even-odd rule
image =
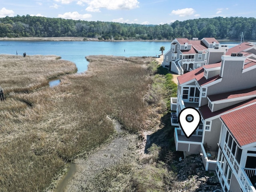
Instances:
[[[251,88],[255,86],[256,70],[242,73],[243,61],[225,61],[222,81],[208,87],[207,95]]]

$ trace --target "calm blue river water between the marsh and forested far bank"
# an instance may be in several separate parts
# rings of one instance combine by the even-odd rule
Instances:
[[[64,60],[72,61],[78,73],[87,70],[89,55],[114,56],[156,56],[161,54],[161,46],[165,51],[170,49],[171,41],[0,41],[0,54],[23,55],[58,55]],[[221,44],[238,44],[238,42],[221,42]],[[229,46],[232,47],[232,46]]]

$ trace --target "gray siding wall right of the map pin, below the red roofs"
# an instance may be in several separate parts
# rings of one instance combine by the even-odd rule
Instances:
[[[218,145],[220,138],[221,122],[219,118],[212,120],[211,131],[204,133],[204,144],[211,146],[212,151],[218,152]]]

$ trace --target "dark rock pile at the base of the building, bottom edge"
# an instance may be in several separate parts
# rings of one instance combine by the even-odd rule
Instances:
[[[194,186],[194,191],[213,192],[217,189],[222,191],[216,172],[206,171],[200,156],[188,156],[186,159],[174,161],[172,164],[176,167],[178,180],[187,186]]]

